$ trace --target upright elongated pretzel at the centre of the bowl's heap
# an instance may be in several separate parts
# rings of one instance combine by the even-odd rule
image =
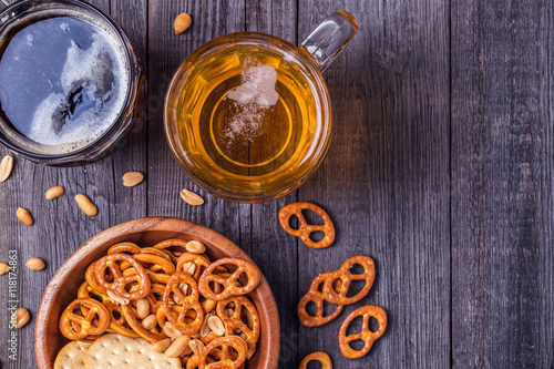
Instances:
[[[188,285],[189,295],[187,296],[179,288],[179,285],[183,283]],[[192,336],[201,329],[202,321],[204,320],[204,310],[198,298],[198,285],[193,276],[183,271],[173,274],[167,283],[167,287],[165,287],[164,310],[167,320],[184,335]],[[178,314],[173,312],[171,309],[171,301],[175,301],[179,307]],[[189,318],[189,310],[196,312],[192,319]]]

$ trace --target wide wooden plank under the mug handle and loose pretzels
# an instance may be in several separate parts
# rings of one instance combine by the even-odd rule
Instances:
[[[447,1],[300,1],[299,41],[329,12],[351,12],[360,31],[325,72],[334,141],[299,198],[337,226],[335,245],[300,246],[300,291],[350,256],[371,256],[369,295],[319,328],[300,330],[300,357],[327,351],[337,368],[450,365],[449,14]],[[337,334],[355,308],[387,310],[387,331],[358,360]]]

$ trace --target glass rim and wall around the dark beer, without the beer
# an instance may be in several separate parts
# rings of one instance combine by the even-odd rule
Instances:
[[[6,7],[2,4],[3,2],[3,0],[0,0],[0,9]],[[95,136],[90,143],[74,151],[63,153],[44,153],[37,148],[30,148],[29,145],[23,145],[21,143],[22,140],[14,140],[13,137],[17,137],[18,134],[24,140],[28,139],[18,132],[10,122],[7,122],[4,115],[0,111],[0,120],[2,121],[0,123],[3,123],[0,126],[0,142],[17,154],[33,162],[51,166],[78,166],[89,164],[106,156],[116,147],[121,146],[129,133],[141,122],[141,115],[144,110],[144,98],[146,94],[144,68],[141,64],[140,58],[131,40],[111,17],[104,14],[91,4],[79,0],[23,0],[16,2],[0,12],[0,35],[10,34],[10,31],[18,29],[18,27],[22,29],[22,24],[30,24],[39,20],[55,17],[66,17],[68,12],[70,14],[75,14],[75,18],[81,21],[84,19],[92,19],[95,23],[102,24],[104,29],[113,31],[110,32],[110,34],[117,38],[117,40],[114,41],[116,41],[116,44],[123,50],[123,62],[127,69],[126,96],[121,104],[121,110],[114,115],[116,119],[114,119],[101,134]],[[11,33],[13,34],[14,32]],[[7,37],[0,37],[0,61],[8,43],[9,40],[7,41]]]

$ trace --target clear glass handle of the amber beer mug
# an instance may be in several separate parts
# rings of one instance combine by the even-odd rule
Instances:
[[[322,72],[346,48],[358,31],[356,19],[342,10],[337,10],[302,42],[300,48],[316,59]]]

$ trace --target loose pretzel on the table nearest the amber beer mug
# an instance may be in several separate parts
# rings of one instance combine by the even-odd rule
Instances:
[[[317,213],[325,222],[324,225],[315,225],[308,224],[306,218],[304,217],[302,211],[308,209]],[[290,217],[296,215],[298,222],[300,223],[300,227],[298,229],[294,229],[290,227]],[[279,222],[283,229],[289,235],[295,237],[299,237],[306,246],[311,248],[325,248],[332,245],[335,242],[335,226],[332,225],[329,215],[317,205],[311,203],[293,203],[279,211]],[[315,242],[310,238],[310,235],[314,232],[324,232],[325,237],[320,242]]]

